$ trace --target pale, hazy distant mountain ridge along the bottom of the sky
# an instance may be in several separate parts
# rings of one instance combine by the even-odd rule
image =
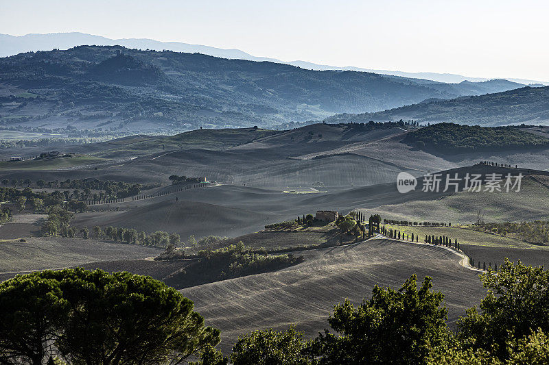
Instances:
[[[363,71],[370,73],[379,73],[382,75],[392,75],[398,77],[406,77],[412,79],[428,79],[433,81],[439,81],[444,83],[460,83],[461,81],[488,81],[487,78],[482,77],[466,77],[463,75],[455,75],[451,73],[410,73],[404,71],[388,71],[379,69],[360,68],[354,66],[329,66],[325,64],[315,64],[313,62],[295,60],[290,62],[284,62],[277,60],[276,58],[256,57],[250,55],[240,49],[220,49],[215,47],[209,47],[204,45],[191,45],[183,42],[161,42],[158,40],[146,39],[146,38],[124,38],[124,39],[110,39],[102,36],[93,36],[91,34],[84,34],[79,32],[71,33],[51,33],[51,34],[26,34],[25,36],[10,36],[8,34],[0,34],[0,57],[16,55],[18,53],[30,52],[30,51],[50,51],[51,49],[69,49],[79,45],[121,45],[131,49],[152,49],[155,51],[162,51],[163,49],[169,49],[176,52],[187,53],[202,53],[205,55],[213,55],[221,58],[231,58],[239,60],[250,61],[269,61],[276,63],[291,64],[301,68],[316,71],[327,70],[344,70],[344,71]],[[514,79],[506,78],[509,81],[517,82],[519,84],[543,84],[549,85],[549,81],[535,81],[528,79]]]

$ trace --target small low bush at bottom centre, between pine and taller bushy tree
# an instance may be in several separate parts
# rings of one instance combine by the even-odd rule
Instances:
[[[241,336],[233,346],[234,365],[306,365],[312,362],[305,355],[303,333],[290,327],[288,331],[253,331]]]

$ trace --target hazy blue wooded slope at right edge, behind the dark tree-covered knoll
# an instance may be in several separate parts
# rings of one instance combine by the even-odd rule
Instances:
[[[367,123],[414,119],[420,123],[450,122],[467,125],[498,126],[549,123],[549,87],[520,88],[493,94],[432,100],[384,112],[340,114],[326,123]]]

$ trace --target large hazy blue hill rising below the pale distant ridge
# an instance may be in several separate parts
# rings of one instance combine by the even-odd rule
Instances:
[[[501,80],[441,84],[200,53],[80,46],[1,58],[0,125],[80,137],[168,134],[377,112],[519,86]]]

